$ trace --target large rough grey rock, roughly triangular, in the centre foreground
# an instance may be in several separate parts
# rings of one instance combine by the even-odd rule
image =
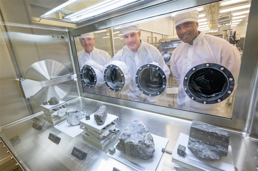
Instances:
[[[148,128],[141,121],[131,122],[119,138],[117,150],[139,157],[150,159],[155,151],[154,141]]]

